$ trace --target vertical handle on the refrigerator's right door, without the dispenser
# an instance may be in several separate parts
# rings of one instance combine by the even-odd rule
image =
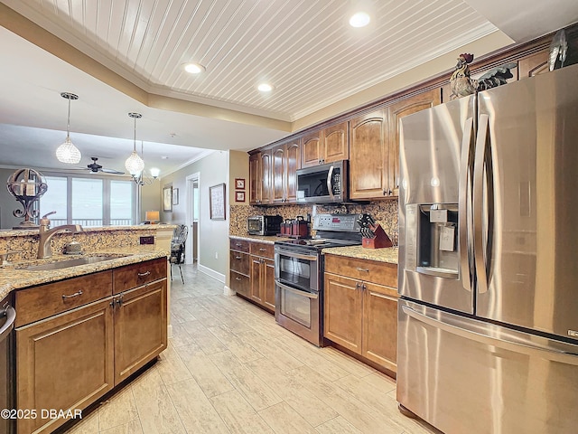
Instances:
[[[478,291],[480,294],[488,292],[489,287],[489,254],[491,252],[491,233],[493,220],[493,194],[492,189],[488,188],[488,228],[487,244],[484,249],[484,168],[488,183],[491,183],[492,171],[489,156],[486,151],[489,149],[489,116],[480,115],[478,137],[476,139],[476,155],[473,168],[473,246],[474,259],[476,265],[476,278],[478,282]],[[486,165],[486,162],[489,164]]]

